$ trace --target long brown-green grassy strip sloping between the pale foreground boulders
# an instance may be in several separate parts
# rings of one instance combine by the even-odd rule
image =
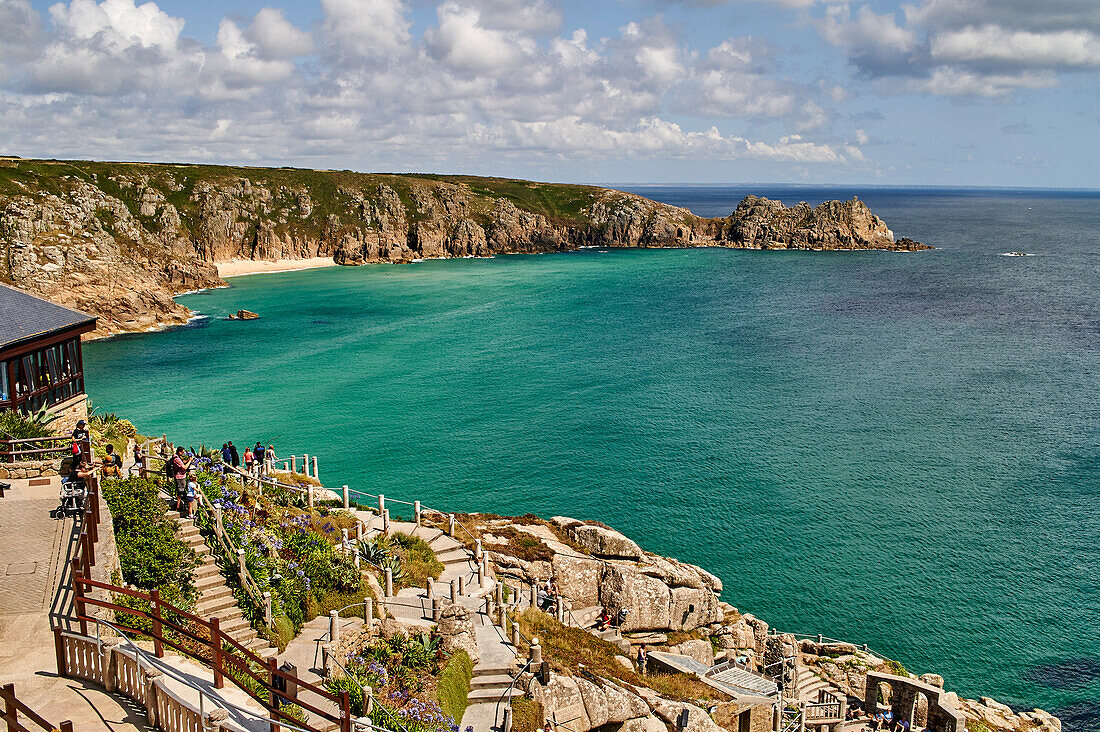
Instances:
[[[689,674],[642,676],[627,670],[615,660],[615,656],[622,655],[618,647],[587,631],[562,625],[538,610],[524,612],[519,616],[519,626],[527,637],[539,638],[542,657],[559,673],[572,674],[579,665],[584,664],[597,676],[644,686],[678,701],[726,699],[725,695]]]

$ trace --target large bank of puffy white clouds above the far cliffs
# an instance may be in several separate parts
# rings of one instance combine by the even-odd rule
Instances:
[[[22,48],[0,61],[0,136],[51,156],[391,170],[486,155],[493,165],[861,160],[836,142],[851,133],[833,130],[827,89],[780,76],[757,39],[696,48],[660,18],[612,37],[546,37],[560,20],[524,6],[444,0],[414,33],[403,0],[322,0],[310,33],[270,7],[221,19],[202,42],[154,2],[72,0],[43,23],[26,0],[0,0],[0,19],[22,29],[13,39],[0,28],[0,47]],[[558,4],[527,7],[553,15]],[[773,131],[745,133],[756,119]]]

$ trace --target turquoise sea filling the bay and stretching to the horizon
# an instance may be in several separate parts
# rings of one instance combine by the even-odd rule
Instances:
[[[1100,729],[1100,198],[865,199],[939,249],[242,277],[88,345],[88,387],[178,443],[317,452],[328,484],[604,521],[782,630]]]

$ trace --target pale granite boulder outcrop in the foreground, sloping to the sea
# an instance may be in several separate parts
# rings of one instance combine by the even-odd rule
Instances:
[[[552,579],[563,600],[561,612],[566,625],[591,627],[601,609],[608,609],[613,616],[622,612],[619,627],[591,631],[606,651],[579,643],[574,634],[569,642],[578,647],[558,648],[556,653],[553,641],[547,640],[552,635],[550,626],[532,629],[551,646],[548,653],[554,656],[553,673],[541,680],[529,678],[525,688],[548,717],[557,713],[557,719],[576,719],[571,726],[575,732],[604,729],[608,723],[623,724],[617,729],[631,732],[660,732],[667,724],[674,725],[685,708],[692,710],[697,732],[718,732],[723,728],[736,729],[723,723],[726,712],[740,713],[760,702],[737,688],[741,681],[733,681],[733,688],[725,687],[727,693],[722,692],[721,685],[703,676],[701,680],[710,686],[711,692],[707,687],[678,689],[652,684],[637,675],[642,671],[637,667],[641,645],[650,654],[651,667],[654,657],[660,656],[658,666],[668,670],[675,670],[675,664],[680,663],[676,659],[682,658],[689,665],[695,662],[701,669],[736,662],[741,668],[772,676],[777,662],[787,658],[791,664],[784,699],[794,707],[809,709],[820,704],[823,695],[832,695],[866,709],[869,679],[877,677],[893,682],[892,689],[878,682],[871,687],[877,689],[876,696],[884,709],[891,704],[892,695],[906,693],[904,679],[927,695],[911,702],[915,704],[914,724],[945,729],[947,717],[953,717],[956,722],[946,729],[961,729],[959,723],[971,731],[985,732],[1062,729],[1056,717],[1041,709],[1013,710],[989,697],[961,698],[945,688],[942,676],[914,675],[866,645],[777,632],[765,620],[723,600],[722,580],[711,572],[646,551],[629,537],[598,522],[490,514],[463,514],[458,520],[471,532],[471,537],[477,537],[496,576],[509,586],[542,587]],[[468,542],[472,547],[474,539]],[[580,664],[569,663],[571,653]],[[614,663],[602,664],[600,657],[604,653]],[[673,665],[669,666],[669,662]],[[936,700],[935,704],[928,697]],[[771,726],[770,717],[761,721]],[[755,729],[755,713],[752,722]],[[855,731],[865,724],[866,721],[851,721],[832,729]]]

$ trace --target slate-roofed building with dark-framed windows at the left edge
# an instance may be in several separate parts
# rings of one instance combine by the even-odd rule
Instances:
[[[0,412],[61,414],[72,429],[88,416],[80,335],[96,318],[0,285]]]

